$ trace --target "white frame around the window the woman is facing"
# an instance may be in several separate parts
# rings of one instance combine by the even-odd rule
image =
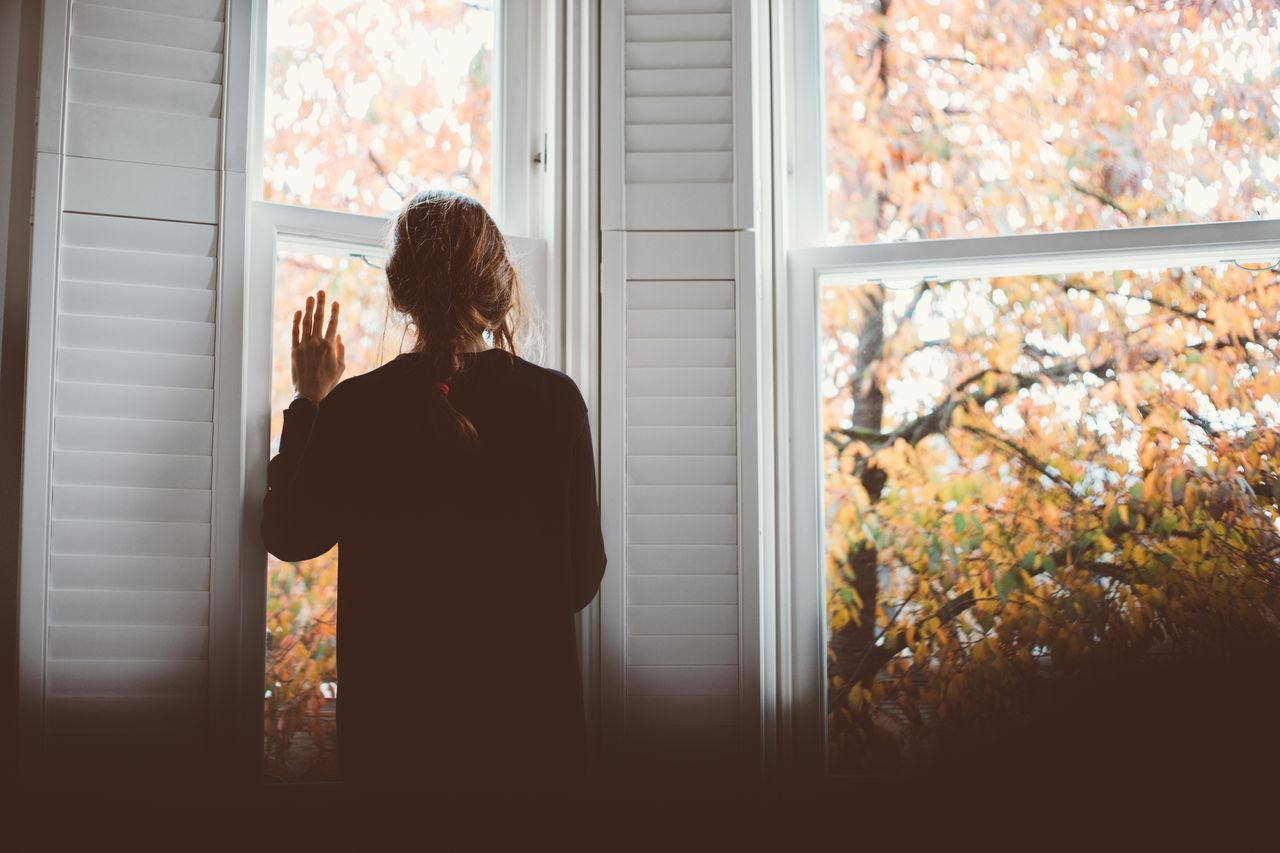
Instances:
[[[384,240],[390,215],[376,216],[353,214],[321,207],[276,204],[262,200],[262,123],[266,92],[266,22],[269,0],[253,0],[253,32],[248,73],[248,146],[246,152],[247,195],[246,232],[248,241],[247,274],[243,292],[243,350],[239,382],[241,406],[221,407],[218,429],[243,430],[243,457],[241,460],[241,493],[243,515],[241,519],[239,556],[242,578],[239,599],[238,647],[241,661],[241,702],[236,711],[238,743],[244,756],[241,766],[252,768],[260,776],[262,762],[262,676],[265,671],[266,631],[266,551],[257,537],[260,511],[266,491],[266,467],[270,459],[271,374],[264,365],[271,364],[271,323],[275,298],[275,270],[280,248],[314,248],[317,254],[364,256],[374,263],[384,251]],[[489,205],[494,220],[503,231],[517,264],[525,266],[526,275],[536,282],[531,293],[538,306],[543,332],[541,364],[566,369],[588,393],[590,366],[588,346],[579,339],[584,332],[586,306],[584,287],[564,287],[566,260],[579,266],[577,256],[588,254],[590,246],[577,241],[567,242],[563,219],[559,216],[566,204],[566,179],[575,192],[581,184],[591,184],[594,175],[585,169],[594,165],[594,158],[584,159],[584,165],[570,172],[568,159],[557,149],[580,150],[580,140],[566,138],[557,145],[564,127],[564,63],[593,69],[575,49],[563,44],[568,22],[581,26],[584,9],[573,4],[566,9],[563,0],[493,0],[495,14],[494,38],[494,147],[498,168],[494,174],[494,199]],[[594,42],[593,42],[594,45]],[[590,46],[590,45],[589,45]],[[594,85],[594,73],[591,77]],[[570,93],[571,99],[576,93]],[[582,209],[579,200],[568,204],[567,214],[591,220],[594,207]],[[589,283],[588,283],[589,284]],[[589,302],[589,300],[586,300]],[[575,302],[573,309],[568,304]],[[584,316],[579,316],[579,315]],[[590,334],[594,323],[586,320]],[[566,334],[568,332],[568,334]],[[250,365],[257,365],[250,369]],[[264,583],[259,583],[262,580]],[[584,611],[580,620],[581,651],[588,666],[588,680],[594,660],[594,631],[590,616]]]

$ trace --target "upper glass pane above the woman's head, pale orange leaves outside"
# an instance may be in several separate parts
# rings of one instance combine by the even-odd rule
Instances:
[[[490,204],[493,4],[271,0],[262,197],[385,214],[426,187]]]

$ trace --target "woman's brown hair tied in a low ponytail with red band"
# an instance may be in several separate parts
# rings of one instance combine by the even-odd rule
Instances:
[[[524,297],[507,241],[475,199],[424,190],[392,222],[387,286],[389,307],[417,329],[411,351],[425,356],[433,409],[460,439],[474,442],[475,425],[449,402],[448,383],[463,366],[462,347],[476,338],[516,353]]]

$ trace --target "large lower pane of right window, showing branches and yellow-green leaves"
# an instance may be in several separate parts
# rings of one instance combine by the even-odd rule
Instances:
[[[1171,638],[1277,637],[1277,284],[824,280],[833,770],[893,770],[940,721]]]

